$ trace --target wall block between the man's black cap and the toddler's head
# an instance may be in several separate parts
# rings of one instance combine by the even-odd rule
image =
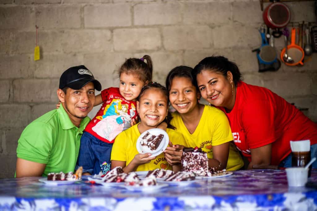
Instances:
[[[133,54],[130,53],[86,54],[84,64],[100,81],[102,89],[106,89],[111,86],[119,86],[119,81],[115,83],[115,80],[119,78],[117,71],[126,59],[133,57]]]

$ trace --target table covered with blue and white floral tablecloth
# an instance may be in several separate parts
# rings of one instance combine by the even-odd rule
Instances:
[[[298,210],[317,209],[317,190],[288,187],[283,170],[234,171],[154,192],[81,182],[48,186],[41,177],[0,179],[0,210]],[[317,171],[309,181],[317,182]]]

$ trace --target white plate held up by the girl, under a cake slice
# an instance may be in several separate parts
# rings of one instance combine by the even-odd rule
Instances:
[[[153,135],[159,135],[159,134],[163,134],[164,135],[163,140],[161,141],[159,147],[156,150],[154,150],[154,151],[151,151],[146,146],[141,146],[141,139],[145,135],[145,133],[147,133],[147,132],[149,132],[149,133],[151,133]],[[167,135],[167,133],[164,130],[159,129],[159,128],[149,129],[149,130],[144,131],[139,136],[139,138],[137,140],[137,150],[141,154],[152,153],[151,157],[154,157],[154,156],[157,156],[157,155],[161,154],[166,149],[166,147],[168,146],[168,141],[169,141],[168,135]]]

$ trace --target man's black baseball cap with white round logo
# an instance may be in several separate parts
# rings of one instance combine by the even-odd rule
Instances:
[[[59,88],[69,87],[73,90],[79,90],[89,82],[94,83],[96,90],[101,90],[101,84],[94,78],[93,73],[84,65],[79,65],[70,67],[61,74]]]

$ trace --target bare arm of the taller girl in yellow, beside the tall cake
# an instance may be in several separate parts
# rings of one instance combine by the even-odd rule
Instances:
[[[208,166],[214,170],[223,170],[227,167],[230,142],[212,146],[213,158],[208,159]]]

